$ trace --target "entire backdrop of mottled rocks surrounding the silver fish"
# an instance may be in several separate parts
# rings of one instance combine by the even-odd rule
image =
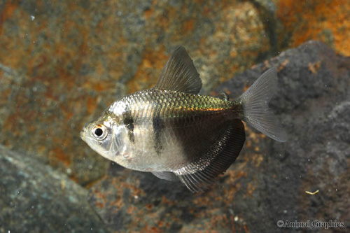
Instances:
[[[234,98],[279,71],[271,107],[288,141],[246,127],[203,194],[123,169],[79,136],[153,87],[178,45],[201,94]],[[347,0],[0,0],[0,232],[325,231],[279,220],[349,232],[349,56]]]

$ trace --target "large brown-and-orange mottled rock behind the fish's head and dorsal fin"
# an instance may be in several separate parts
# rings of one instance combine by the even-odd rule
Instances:
[[[152,87],[177,45],[205,93],[270,52],[250,1],[0,1],[0,143],[78,183],[97,180],[108,162],[80,130]]]

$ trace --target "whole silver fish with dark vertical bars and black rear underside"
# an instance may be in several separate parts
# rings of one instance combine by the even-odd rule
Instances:
[[[155,87],[114,101],[80,137],[92,150],[121,166],[180,180],[205,192],[239,156],[244,124],[284,142],[287,135],[269,109],[277,71],[262,73],[240,97],[198,94],[200,74],[183,46],[169,57]]]

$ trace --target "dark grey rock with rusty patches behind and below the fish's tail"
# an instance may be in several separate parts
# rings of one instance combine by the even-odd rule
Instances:
[[[114,164],[90,189],[90,203],[104,223],[117,230],[300,232],[276,223],[336,220],[345,228],[333,230],[349,231],[350,58],[310,41],[253,66],[217,93],[236,97],[271,66],[279,70],[271,107],[286,127],[286,143],[246,127],[235,164],[197,195],[179,182]]]

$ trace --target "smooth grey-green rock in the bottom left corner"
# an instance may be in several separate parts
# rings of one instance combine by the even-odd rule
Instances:
[[[87,190],[0,146],[0,232],[106,232]]]

